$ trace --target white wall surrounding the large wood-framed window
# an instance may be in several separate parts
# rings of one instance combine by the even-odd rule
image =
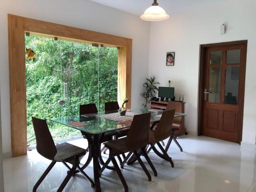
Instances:
[[[88,0],[8,0],[0,3],[0,80],[3,152],[11,151],[10,94],[8,71],[7,13],[133,39],[132,106],[140,104],[139,93],[148,76],[150,24],[138,16]]]

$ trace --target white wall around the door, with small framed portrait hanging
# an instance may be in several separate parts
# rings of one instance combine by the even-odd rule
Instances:
[[[255,144],[256,1],[212,2],[204,9],[171,15],[166,21],[151,24],[149,74],[155,75],[162,86],[173,79],[176,96],[184,94],[187,102],[187,130],[196,133],[200,44],[248,39],[243,142]],[[227,25],[227,32],[221,35],[223,23]],[[175,66],[165,66],[168,51],[175,51]]]

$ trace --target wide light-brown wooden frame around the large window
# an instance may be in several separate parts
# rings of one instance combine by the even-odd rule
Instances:
[[[118,47],[118,99],[131,107],[132,39],[8,14],[12,156],[27,154],[25,33]],[[120,74],[120,76],[119,76]]]

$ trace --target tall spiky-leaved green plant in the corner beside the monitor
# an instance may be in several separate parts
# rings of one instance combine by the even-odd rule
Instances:
[[[157,84],[160,84],[159,82],[155,81],[155,77],[146,78],[146,82],[143,83],[144,92],[140,94],[140,96],[143,98],[144,103],[142,106],[145,108],[150,104],[150,100],[156,96],[156,91],[158,91],[158,88],[156,87]]]

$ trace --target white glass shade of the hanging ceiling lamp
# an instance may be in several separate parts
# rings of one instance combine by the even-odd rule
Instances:
[[[150,22],[158,22],[159,20],[165,20],[170,16],[160,6],[151,6],[145,10],[143,15],[140,16],[143,20]]]

